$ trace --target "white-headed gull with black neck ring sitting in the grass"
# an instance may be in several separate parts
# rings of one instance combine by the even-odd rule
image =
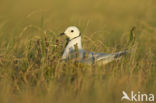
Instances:
[[[96,52],[86,52],[82,48],[81,42],[81,32],[76,26],[69,26],[65,32],[60,34],[66,35],[68,37],[68,42],[64,49],[62,60],[75,60],[78,58],[78,62],[87,63],[87,64],[107,64],[114,60],[121,58],[126,55],[129,51],[124,50],[116,53],[96,53]],[[75,53],[75,51],[78,53]]]

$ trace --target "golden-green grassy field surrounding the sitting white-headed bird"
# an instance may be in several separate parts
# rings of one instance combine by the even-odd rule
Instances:
[[[129,103],[156,95],[156,0],[1,0],[0,103]],[[57,35],[75,25],[85,50],[133,52],[108,65],[60,62]]]

